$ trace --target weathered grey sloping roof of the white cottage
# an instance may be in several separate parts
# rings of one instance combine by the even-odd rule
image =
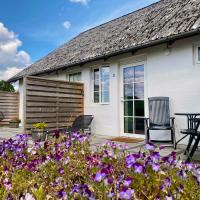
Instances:
[[[79,34],[9,81],[198,34],[200,0],[161,0]]]

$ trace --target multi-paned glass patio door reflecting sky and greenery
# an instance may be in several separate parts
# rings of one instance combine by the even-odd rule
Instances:
[[[144,137],[144,65],[121,67],[122,134]]]

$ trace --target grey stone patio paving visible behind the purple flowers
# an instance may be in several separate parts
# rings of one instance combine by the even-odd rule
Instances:
[[[21,134],[21,133],[23,133],[22,128],[15,129],[15,128],[8,128],[8,127],[0,127],[0,141],[12,138],[16,134]],[[109,139],[111,139],[111,137],[108,137],[108,136],[105,136],[105,135],[101,135],[101,136],[100,135],[92,135],[90,137],[90,142],[91,142],[92,146],[95,148],[99,145],[106,143]],[[123,142],[115,142],[115,143],[125,144]],[[130,153],[143,151],[144,147],[145,147],[144,141],[138,142],[138,143],[128,143],[128,151]],[[185,148],[186,148],[186,145],[179,144],[177,146],[177,149],[174,150],[172,148],[172,146],[166,145],[165,148],[161,151],[161,155],[163,155],[163,156],[168,155],[170,152],[175,151],[180,159],[185,160],[185,158],[186,158],[186,156],[184,155]],[[193,160],[195,162],[200,161],[200,150],[198,150],[195,153]]]

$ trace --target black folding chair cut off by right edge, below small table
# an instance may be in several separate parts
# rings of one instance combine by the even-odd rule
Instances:
[[[190,161],[192,159],[195,151],[198,148],[198,144],[200,141],[200,132],[198,131],[199,126],[200,126],[200,118],[192,119],[192,123],[193,123],[194,128],[181,130],[182,134],[190,136],[187,148],[185,150],[185,154],[188,154],[187,161]],[[190,147],[191,147],[193,141],[195,141],[195,142],[194,142],[194,145],[190,152]]]

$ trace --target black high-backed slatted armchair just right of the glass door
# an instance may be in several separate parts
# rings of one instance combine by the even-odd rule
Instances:
[[[149,118],[146,121],[146,142],[172,143],[176,148],[174,117],[170,117],[169,97],[150,97]],[[150,140],[151,130],[171,131],[171,140]]]

